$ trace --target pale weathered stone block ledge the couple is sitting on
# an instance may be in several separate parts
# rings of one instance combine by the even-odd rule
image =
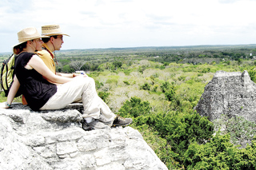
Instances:
[[[81,111],[82,105],[42,112],[20,104],[0,109],[0,169],[167,169],[137,130],[86,132]]]

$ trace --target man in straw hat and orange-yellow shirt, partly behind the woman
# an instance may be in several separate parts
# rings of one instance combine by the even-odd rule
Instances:
[[[56,73],[56,66],[54,63],[54,51],[60,50],[62,48],[63,35],[69,36],[68,34],[63,34],[60,26],[58,25],[49,25],[42,26],[42,36],[49,36],[50,38],[42,38],[44,44],[42,45],[42,51],[38,51],[38,56],[42,58],[42,61],[45,62],[46,66],[56,75],[62,77],[75,77],[75,74],[70,73]],[[86,75],[85,75],[86,76]],[[80,101],[77,101],[80,102]],[[96,104],[97,105],[97,104]],[[132,119],[120,117],[112,112],[110,113],[99,113],[99,121],[105,125],[117,125],[117,126],[126,126],[130,125]],[[85,128],[90,128],[90,125],[94,125],[94,119],[85,117],[86,124]]]

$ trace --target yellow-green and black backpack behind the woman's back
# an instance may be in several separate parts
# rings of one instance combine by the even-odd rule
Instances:
[[[5,61],[2,62],[2,69],[1,69],[1,85],[2,89],[6,94],[6,97],[8,96],[10,86],[14,82],[14,65],[15,61],[17,59],[17,55],[14,55],[14,53]],[[20,90],[16,93],[15,97],[20,96],[22,93]]]

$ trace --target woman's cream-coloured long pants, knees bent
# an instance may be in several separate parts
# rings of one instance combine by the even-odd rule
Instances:
[[[82,102],[84,113],[82,117],[98,119],[100,114],[106,121],[114,121],[116,115],[100,97],[95,89],[94,79],[91,77],[74,77],[72,81],[57,85],[57,92],[40,110],[62,109],[73,102]]]

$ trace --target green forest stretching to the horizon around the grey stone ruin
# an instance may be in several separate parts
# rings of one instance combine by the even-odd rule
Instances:
[[[73,49],[56,56],[58,72],[93,77],[102,100],[133,118],[130,126],[169,169],[256,169],[254,122],[225,116],[211,122],[194,111],[216,71],[247,70],[256,80],[256,45]]]

